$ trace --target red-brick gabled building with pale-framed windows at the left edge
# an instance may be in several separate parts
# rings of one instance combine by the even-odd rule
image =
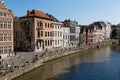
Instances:
[[[13,51],[13,13],[0,2],[0,58]]]

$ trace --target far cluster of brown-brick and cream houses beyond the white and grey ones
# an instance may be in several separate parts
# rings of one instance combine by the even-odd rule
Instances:
[[[94,44],[108,41],[111,38],[111,24],[105,21],[81,26],[81,42]]]

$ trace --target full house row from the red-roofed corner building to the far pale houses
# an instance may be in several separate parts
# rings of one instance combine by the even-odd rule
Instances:
[[[110,35],[109,22],[79,25],[75,20],[59,21],[53,15],[35,9],[14,20],[16,51],[36,52],[56,47],[90,45],[110,40]]]

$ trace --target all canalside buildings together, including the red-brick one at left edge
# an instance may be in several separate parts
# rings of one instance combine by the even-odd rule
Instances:
[[[79,25],[75,20],[59,21],[40,10],[28,10],[14,17],[0,2],[0,57],[11,51],[42,51],[59,47],[90,45],[110,39],[111,24],[100,21]]]

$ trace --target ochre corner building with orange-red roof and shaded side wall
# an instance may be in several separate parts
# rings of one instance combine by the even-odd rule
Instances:
[[[52,47],[52,18],[39,10],[14,20],[16,51],[42,51]]]

